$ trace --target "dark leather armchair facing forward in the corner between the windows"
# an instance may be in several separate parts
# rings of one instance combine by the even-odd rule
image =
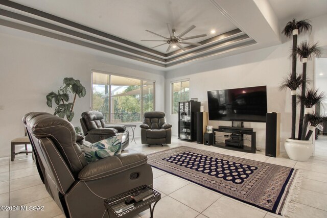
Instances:
[[[172,139],[172,125],[166,123],[164,112],[146,112],[141,124],[142,144],[170,144]]]

